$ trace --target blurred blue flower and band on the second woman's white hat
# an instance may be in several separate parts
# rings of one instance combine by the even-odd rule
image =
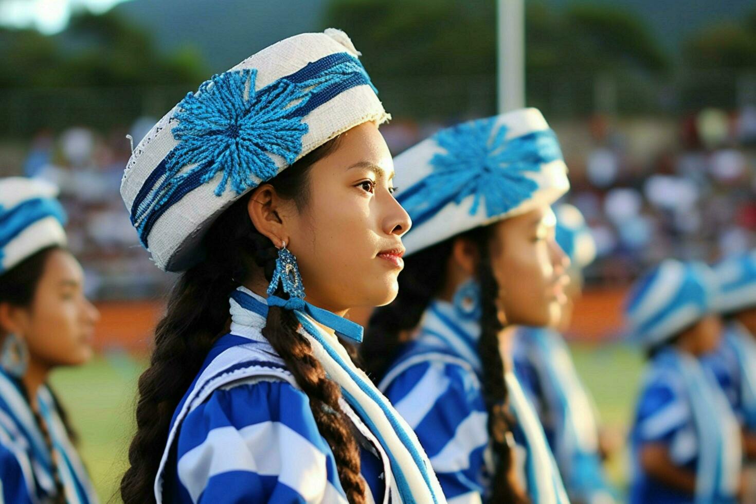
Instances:
[[[550,129],[505,140],[508,128],[496,128],[496,118],[466,122],[439,131],[434,139],[446,152],[430,160],[433,171],[397,197],[415,227],[449,203],[459,205],[475,196],[470,215],[481,199],[486,215],[503,215],[530,198],[538,184],[525,172],[562,159],[559,141]]]

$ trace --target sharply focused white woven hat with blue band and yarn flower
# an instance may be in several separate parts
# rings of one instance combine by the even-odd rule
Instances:
[[[121,184],[158,267],[196,264],[204,233],[240,196],[344,131],[389,119],[359,54],[337,29],[293,36],[213,76],[160,119]]]

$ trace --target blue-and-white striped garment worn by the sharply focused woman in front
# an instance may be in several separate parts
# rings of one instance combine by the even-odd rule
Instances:
[[[175,410],[156,501],[346,502],[307,395],[262,335],[265,299],[240,288],[230,302],[231,332],[215,343]],[[322,362],[322,354],[318,358]],[[413,477],[409,449],[398,447],[375,418],[366,419],[369,405],[353,402],[355,389],[339,384],[342,410],[361,447],[368,502],[445,502],[429,462],[434,486],[427,488],[420,472]],[[391,410],[383,421],[391,415],[398,417]],[[413,481],[407,484],[404,475]]]

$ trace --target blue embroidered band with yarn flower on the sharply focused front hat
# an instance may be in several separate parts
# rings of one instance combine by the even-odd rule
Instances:
[[[229,183],[241,194],[270,180],[278,172],[271,154],[290,165],[302,151],[308,131],[303,117],[349,88],[370,85],[375,91],[362,64],[347,53],[308,63],[259,91],[256,74],[248,69],[213,76],[197,94],[181,100],[172,128],[179,144],[147,177],[132,204],[132,224],[144,246],[157,219],[218,172],[223,177],[216,196]],[[184,169],[187,165],[194,166]]]

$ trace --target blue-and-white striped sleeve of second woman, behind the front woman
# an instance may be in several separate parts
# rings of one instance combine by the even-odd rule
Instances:
[[[454,363],[417,363],[386,396],[417,434],[448,501],[481,502],[488,430],[476,377]]]

